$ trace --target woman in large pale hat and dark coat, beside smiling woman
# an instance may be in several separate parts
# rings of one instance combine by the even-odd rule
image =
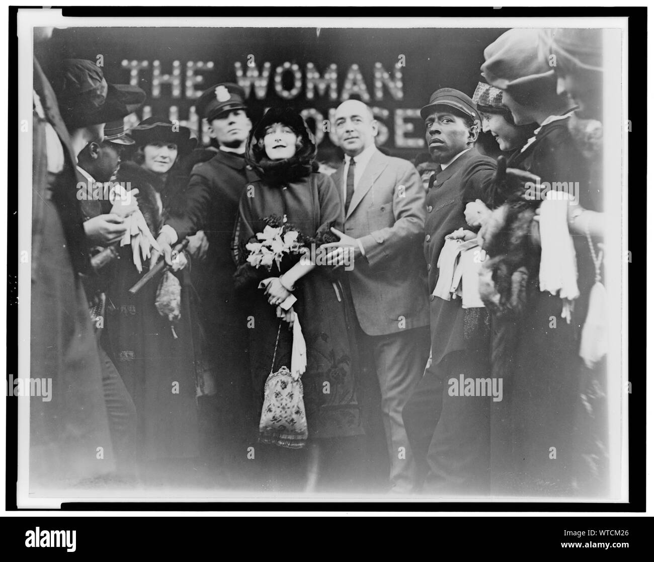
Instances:
[[[525,56],[530,50],[534,56]],[[568,131],[572,107],[557,94],[556,79],[547,62],[538,58],[535,33],[511,29],[487,47],[484,55],[482,71],[492,85],[504,90],[503,103],[511,109],[515,123],[535,121],[539,125],[507,166],[540,177],[542,184],[576,185],[579,203],[588,208],[587,168]],[[566,497],[577,492],[574,427],[579,343],[593,265],[585,238],[574,236],[579,297],[568,304],[558,292],[540,290],[539,231],[543,226],[539,229],[535,221],[542,201],[538,196],[527,199],[531,200],[509,197],[502,213],[494,211],[481,232],[490,262],[500,259],[513,268],[509,273],[494,270],[496,286],[502,277],[519,288],[513,292],[511,304],[504,307],[504,314],[517,323],[517,337],[513,349],[504,347],[499,358],[509,367],[503,374],[502,401],[492,404],[492,490]],[[567,229],[557,232],[559,235],[566,239]],[[522,266],[519,283],[511,276],[515,264]],[[519,270],[514,275],[517,273]]]

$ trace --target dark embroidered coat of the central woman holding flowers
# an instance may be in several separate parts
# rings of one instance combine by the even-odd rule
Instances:
[[[286,215],[288,224],[307,237],[325,239],[334,226],[342,231],[341,203],[330,177],[311,172],[288,183],[268,183],[251,177],[254,196],[241,197],[237,248],[239,262],[245,263],[245,243],[262,232],[266,217]],[[319,242],[318,242],[319,243]],[[247,266],[246,266],[247,267]],[[284,264],[282,266],[283,270]],[[307,371],[302,375],[309,437],[351,436],[363,432],[356,395],[356,358],[352,311],[347,309],[339,283],[334,282],[329,266],[316,268],[296,283],[295,296],[303,336],[307,345]],[[245,277],[239,294],[254,319],[250,333],[250,368],[254,386],[254,411],[261,413],[264,383],[268,374],[282,365],[290,367],[292,332],[282,327],[279,349],[273,366],[273,354],[279,319],[275,307],[257,289],[259,277],[279,276],[256,270]],[[240,279],[240,278],[239,278]],[[324,383],[330,392],[324,393]]]

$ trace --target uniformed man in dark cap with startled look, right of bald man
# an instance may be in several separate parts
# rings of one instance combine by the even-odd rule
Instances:
[[[475,149],[481,120],[463,92],[441,88],[421,109],[425,138],[439,169],[427,191],[424,256],[430,291],[430,365],[403,410],[411,447],[427,469],[429,493],[487,491],[489,408],[486,398],[449,395],[449,379],[489,376],[489,318],[485,308],[463,308],[460,298],[434,294],[445,236],[468,229],[466,203],[485,201],[495,162]],[[468,237],[473,237],[472,232]],[[426,466],[425,466],[426,461]]]

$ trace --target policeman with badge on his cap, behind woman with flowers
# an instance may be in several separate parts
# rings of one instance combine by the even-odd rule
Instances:
[[[209,242],[206,256],[194,264],[194,285],[200,298],[200,322],[205,334],[201,351],[200,415],[204,450],[214,453],[214,465],[242,472],[247,460],[246,421],[251,396],[247,370],[247,315],[234,296],[232,236],[241,194],[246,188],[245,145],[252,122],[245,91],[237,84],[209,88],[196,105],[218,142],[218,153],[194,167],[187,190],[184,217],[169,219],[158,242],[169,251],[184,236],[203,230]]]

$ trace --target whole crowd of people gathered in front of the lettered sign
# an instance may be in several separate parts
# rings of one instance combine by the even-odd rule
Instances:
[[[33,483],[606,493],[602,30],[484,58],[472,97],[425,99],[414,162],[343,101],[331,175],[237,84],[196,103],[216,149],[125,129],[145,92],[92,61],[35,60]]]

